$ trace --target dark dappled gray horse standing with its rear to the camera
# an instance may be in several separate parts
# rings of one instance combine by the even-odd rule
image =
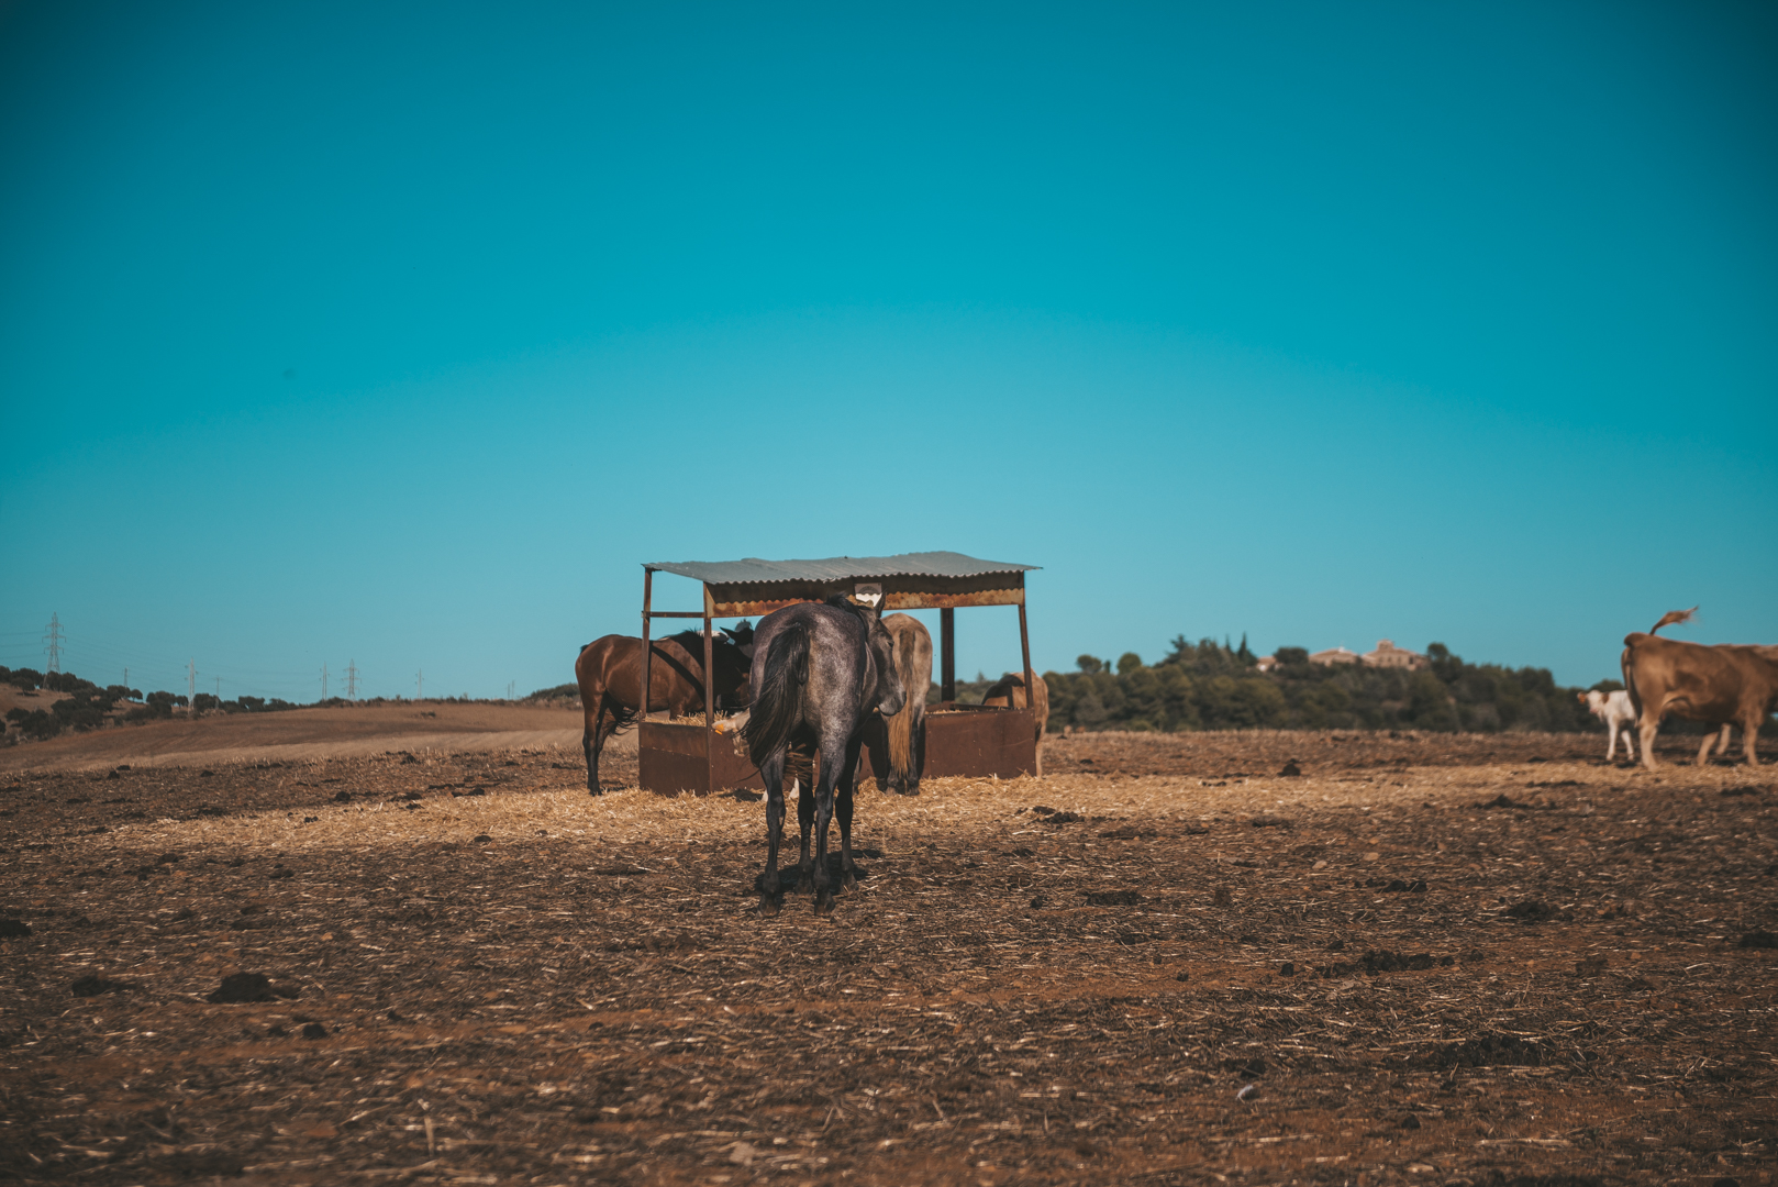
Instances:
[[[827,870],[827,824],[839,813],[839,876],[855,886],[852,865],[852,785],[864,723],[873,710],[896,714],[905,692],[896,673],[894,639],[875,607],[845,594],[766,614],[754,628],[754,708],[743,737],[766,785],[766,868],[759,876],[759,913],[777,915],[784,902],[777,854],[784,836],[784,769],[802,781],[797,822],[802,826],[800,877],[814,883],[814,909],[834,909]],[[807,758],[814,758],[813,778]],[[813,783],[813,788],[811,788]],[[813,790],[813,794],[811,794]],[[814,826],[811,870],[809,833]],[[798,879],[800,881],[800,879]]]

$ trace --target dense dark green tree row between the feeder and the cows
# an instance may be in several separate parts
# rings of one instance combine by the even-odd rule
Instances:
[[[1469,664],[1442,642],[1428,667],[1323,667],[1305,648],[1278,648],[1261,673],[1246,639],[1182,635],[1157,664],[1125,651],[1117,664],[1083,655],[1072,673],[1044,673],[1049,728],[1079,730],[1499,730],[1579,731],[1598,721],[1581,689],[1556,683],[1545,667]],[[1600,682],[1600,689],[1622,687]]]

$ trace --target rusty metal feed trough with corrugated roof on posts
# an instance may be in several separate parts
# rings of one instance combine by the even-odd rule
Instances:
[[[985,708],[957,703],[957,607],[1019,607],[1019,655],[1024,687],[1031,687],[1031,637],[1024,621],[1024,575],[1035,564],[978,561],[958,552],[909,552],[898,557],[830,557],[827,561],[686,561],[642,566],[642,648],[653,658],[649,625],[656,618],[704,619],[704,671],[713,669],[711,623],[720,618],[759,618],[798,602],[825,602],[836,593],[882,594],[882,610],[939,610],[941,703],[926,707],[925,778],[1031,774],[1037,771],[1037,714],[1029,708]],[[704,585],[702,610],[656,610],[654,573],[677,573]],[[653,664],[642,666],[642,703],[649,698]],[[909,689],[909,696],[925,696]],[[880,731],[866,751],[882,746]],[[677,792],[725,792],[763,787],[759,771],[736,735],[717,733],[717,705],[704,682],[704,723],[644,719],[638,735],[642,787]],[[882,769],[884,755],[866,753]]]

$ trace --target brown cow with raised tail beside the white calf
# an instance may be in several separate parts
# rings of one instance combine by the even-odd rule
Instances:
[[[1623,683],[1641,724],[1643,765],[1654,769],[1655,733],[1671,714],[1712,726],[1698,747],[1702,767],[1716,742],[1716,726],[1741,726],[1748,765],[1758,765],[1755,742],[1778,707],[1778,662],[1773,648],[1661,639],[1668,623],[1689,621],[1691,610],[1668,612],[1648,634],[1623,637]]]

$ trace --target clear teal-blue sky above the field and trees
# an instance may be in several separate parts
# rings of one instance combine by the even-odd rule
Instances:
[[[933,548],[1038,667],[1778,642],[1774,215],[1766,4],[5,4],[0,662],[526,692]]]

